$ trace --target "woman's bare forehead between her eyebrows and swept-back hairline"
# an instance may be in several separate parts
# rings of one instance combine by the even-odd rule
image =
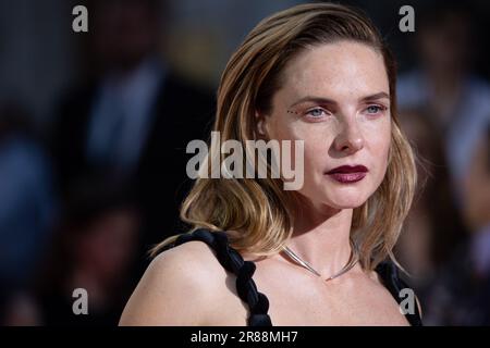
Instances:
[[[315,95],[332,99],[389,92],[381,53],[354,41],[339,41],[301,52],[284,69],[287,97]]]

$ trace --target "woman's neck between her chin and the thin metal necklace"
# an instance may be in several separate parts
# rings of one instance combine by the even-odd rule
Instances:
[[[351,256],[353,210],[314,207],[311,203],[304,207],[295,214],[287,247],[328,277],[339,272]]]

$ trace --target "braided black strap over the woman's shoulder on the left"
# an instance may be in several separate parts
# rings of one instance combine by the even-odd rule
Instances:
[[[221,265],[236,275],[238,297],[248,303],[250,310],[247,324],[249,326],[272,326],[270,316],[267,314],[269,300],[257,290],[257,286],[252,278],[256,269],[255,263],[244,261],[242,256],[229,245],[228,235],[221,231],[210,232],[209,229],[199,228],[192,233],[182,234],[172,244],[167,245],[163,250],[191,240],[206,243],[216,251]]]

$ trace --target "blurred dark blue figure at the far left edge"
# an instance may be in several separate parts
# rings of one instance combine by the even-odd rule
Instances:
[[[51,162],[20,103],[0,103],[0,294],[28,287],[56,212]]]

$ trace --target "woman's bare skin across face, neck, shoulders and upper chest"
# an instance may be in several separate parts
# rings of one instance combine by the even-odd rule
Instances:
[[[351,253],[353,209],[376,191],[385,174],[390,101],[379,94],[389,94],[388,76],[378,52],[340,41],[302,52],[286,65],[283,77],[271,114],[257,114],[257,130],[271,139],[305,140],[305,181],[298,191],[303,204],[296,210],[289,247],[327,278]],[[379,98],[366,99],[373,95]],[[307,96],[333,102],[292,105]],[[363,164],[369,172],[355,184],[324,175],[344,164]],[[283,253],[243,257],[256,263],[254,281],[269,298],[274,325],[407,325],[377,274],[359,264],[326,283]],[[186,243],[156,258],[121,324],[246,325],[248,307],[237,297],[234,282],[207,245]]]

